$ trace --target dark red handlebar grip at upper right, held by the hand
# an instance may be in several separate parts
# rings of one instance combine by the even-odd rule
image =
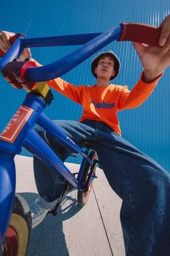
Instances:
[[[151,46],[159,46],[161,27],[153,27],[140,23],[121,23],[122,35],[118,41],[130,40],[138,43],[146,43]]]

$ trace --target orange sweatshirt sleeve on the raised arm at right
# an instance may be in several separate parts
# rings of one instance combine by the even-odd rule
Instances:
[[[156,78],[151,83],[143,82],[142,80],[143,72],[140,75],[140,79],[137,84],[130,91],[127,86],[124,86],[121,90],[120,101],[118,104],[119,110],[126,108],[136,108],[140,106],[146,99],[151,95],[154,88],[156,87],[158,80],[161,78],[162,74]]]

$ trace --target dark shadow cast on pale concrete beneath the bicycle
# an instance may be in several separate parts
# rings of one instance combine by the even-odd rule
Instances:
[[[35,193],[19,193],[28,204],[33,202],[38,195]],[[48,214],[39,226],[32,229],[27,256],[67,256],[68,248],[63,233],[63,221],[71,218],[81,208],[77,205],[76,191],[70,192],[64,198],[57,216]]]

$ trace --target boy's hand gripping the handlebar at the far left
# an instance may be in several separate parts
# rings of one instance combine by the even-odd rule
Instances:
[[[9,38],[15,35],[9,31],[1,31],[0,33],[0,49],[1,51],[6,52],[10,47],[11,43],[9,42]],[[24,59],[31,58],[30,48],[24,48],[22,54],[19,56],[20,61],[24,61]]]

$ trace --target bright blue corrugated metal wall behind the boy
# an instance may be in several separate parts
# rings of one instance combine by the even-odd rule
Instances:
[[[0,2],[1,30],[21,31],[27,37],[95,33],[119,25],[120,22],[143,22],[159,25],[169,13],[169,0],[6,0]],[[77,46],[76,46],[77,47]],[[42,64],[50,63],[72,51],[75,46],[32,49],[32,55]],[[133,88],[142,67],[132,43],[110,43],[122,61],[122,70],[115,83]],[[75,85],[91,85],[91,59],[63,76]],[[169,69],[146,103],[135,110],[122,111],[122,136],[148,153],[170,171],[170,87]],[[14,111],[22,103],[22,90],[12,89],[4,80],[0,87],[0,128],[3,129]],[[75,119],[81,116],[81,106],[59,93],[46,109],[52,119]]]

